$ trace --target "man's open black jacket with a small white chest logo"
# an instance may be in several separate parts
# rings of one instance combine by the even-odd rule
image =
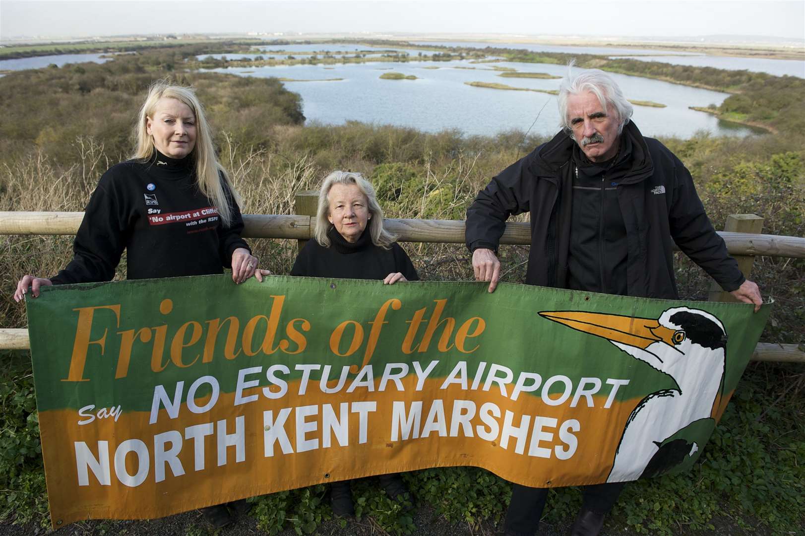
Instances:
[[[615,183],[626,230],[626,294],[675,299],[673,243],[721,287],[732,291],[745,278],[704,213],[690,172],[633,122],[623,136],[630,160]],[[568,286],[568,251],[576,142],[559,132],[494,177],[467,210],[470,251],[497,250],[506,219],[530,212],[531,247],[526,283]]]

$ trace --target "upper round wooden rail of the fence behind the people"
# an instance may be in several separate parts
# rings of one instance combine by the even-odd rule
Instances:
[[[0,235],[75,235],[83,212],[0,212]],[[283,214],[245,214],[243,236],[255,239],[311,239],[315,218]],[[401,242],[464,243],[463,220],[386,219]],[[805,238],[719,232],[732,255],[805,259]],[[530,225],[506,223],[502,244],[528,245]]]

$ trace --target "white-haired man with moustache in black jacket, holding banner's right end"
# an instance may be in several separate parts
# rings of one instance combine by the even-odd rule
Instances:
[[[630,118],[612,77],[588,69],[559,89],[562,131],[489,182],[467,210],[467,247],[477,280],[493,292],[506,219],[530,213],[526,283],[623,296],[678,299],[673,244],[740,301],[761,305],[716,234],[690,172]],[[584,487],[572,536],[595,536],[625,483]],[[531,536],[547,489],[514,484],[506,536]]]

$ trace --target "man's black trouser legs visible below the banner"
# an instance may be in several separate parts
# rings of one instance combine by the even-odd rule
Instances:
[[[584,499],[581,508],[597,513],[609,512],[625,485],[625,482],[613,482],[583,486]],[[547,496],[548,488],[529,488],[513,484],[511,502],[503,524],[506,534],[533,536],[539,526],[539,518],[543,517]]]

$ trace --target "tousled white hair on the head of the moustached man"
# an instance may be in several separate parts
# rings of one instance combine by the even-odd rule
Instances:
[[[609,106],[613,106],[618,121],[620,121],[617,126],[617,133],[620,134],[625,124],[629,123],[629,119],[634,113],[634,106],[626,100],[621,88],[609,74],[601,69],[585,69],[574,77],[572,74],[574,64],[576,64],[576,60],[570,60],[568,75],[562,79],[562,83],[559,85],[559,96],[556,98],[559,101],[559,127],[572,136],[572,128],[568,123],[568,97],[590,92],[598,98],[598,102],[601,102],[605,114],[609,114],[607,109]]]

